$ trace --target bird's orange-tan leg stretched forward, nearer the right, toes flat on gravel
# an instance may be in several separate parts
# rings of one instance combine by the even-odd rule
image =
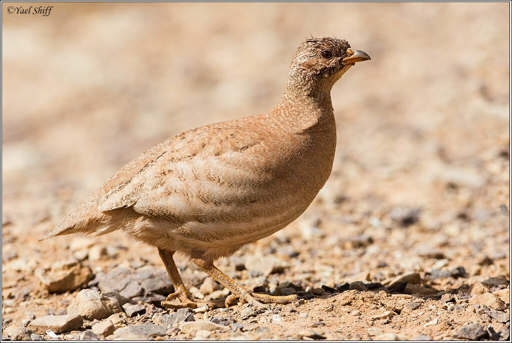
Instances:
[[[265,308],[265,305],[263,304],[288,304],[297,300],[297,295],[295,294],[287,296],[273,296],[268,294],[254,293],[231,280],[229,276],[220,271],[212,263],[206,263],[205,261],[199,259],[194,259],[193,261],[202,271],[215,278],[217,282],[231,291],[231,294],[226,298],[225,301],[226,307],[229,307],[229,305],[231,305],[237,298],[239,298],[240,302],[242,303],[249,303],[258,308]]]

